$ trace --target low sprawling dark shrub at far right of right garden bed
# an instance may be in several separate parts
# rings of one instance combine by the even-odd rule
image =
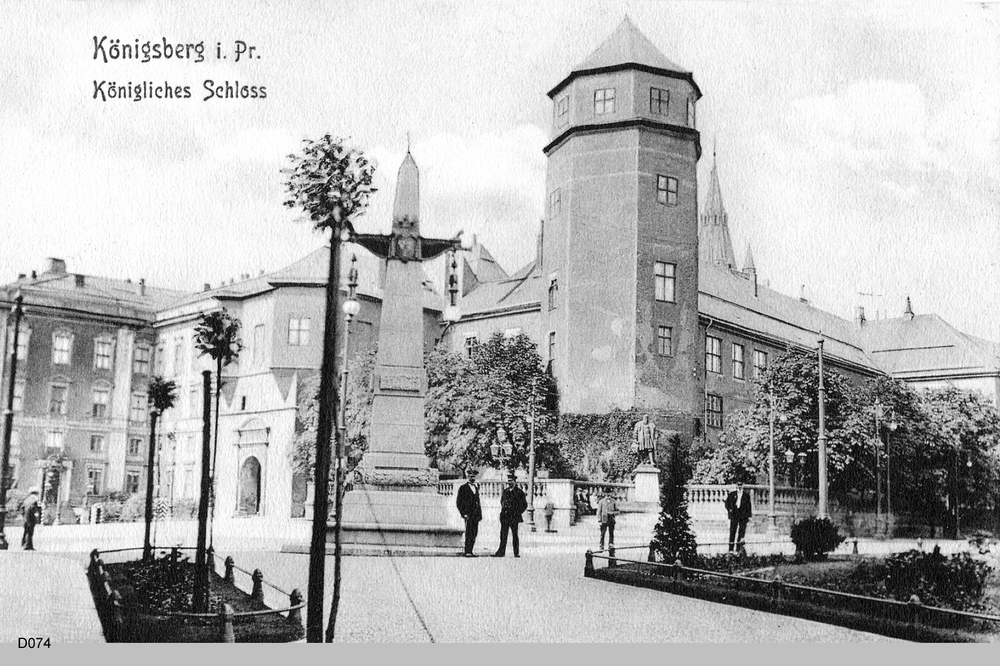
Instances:
[[[885,563],[885,588],[894,598],[907,601],[915,594],[927,605],[956,610],[974,608],[982,600],[992,571],[968,553],[945,557],[937,546],[930,553],[911,550],[893,555]]]

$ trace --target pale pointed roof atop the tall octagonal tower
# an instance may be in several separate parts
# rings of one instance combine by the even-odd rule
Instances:
[[[556,95],[576,76],[630,68],[685,79],[694,88],[695,94],[701,97],[701,91],[694,82],[691,72],[663,55],[627,16],[618,24],[610,37],[574,67],[569,76],[549,91],[549,97]]]

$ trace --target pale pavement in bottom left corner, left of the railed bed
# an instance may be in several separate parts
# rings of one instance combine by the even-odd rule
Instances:
[[[20,637],[104,642],[83,560],[0,551],[0,643]]]

